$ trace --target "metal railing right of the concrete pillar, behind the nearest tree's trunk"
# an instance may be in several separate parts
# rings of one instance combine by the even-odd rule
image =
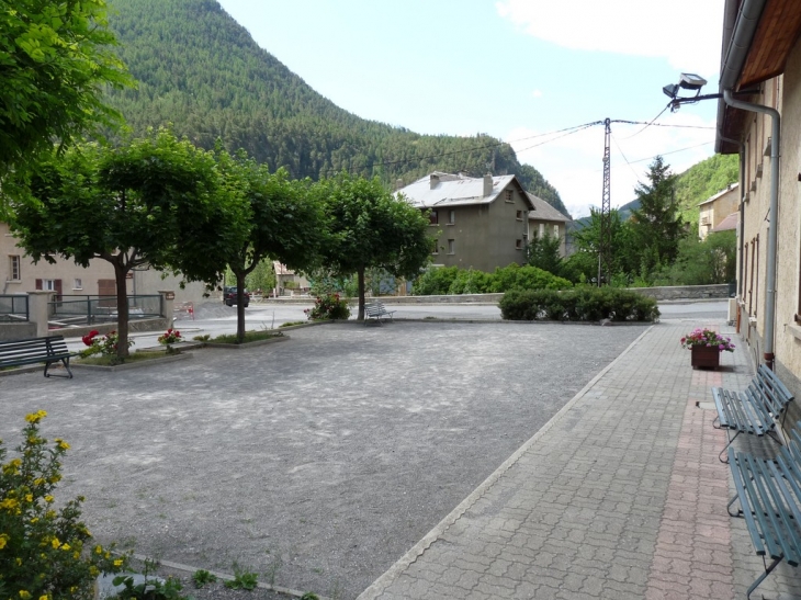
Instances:
[[[160,294],[128,296],[128,319],[153,319],[163,316]],[[50,325],[69,327],[117,320],[116,296],[58,296],[47,303]]]

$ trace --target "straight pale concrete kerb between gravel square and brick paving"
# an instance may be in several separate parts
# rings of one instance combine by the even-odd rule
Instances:
[[[517,321],[515,321],[517,322]],[[533,446],[556,422],[559,422],[573,406],[589,392],[599,380],[601,380],[632,348],[651,331],[652,325],[643,331],[620,355],[603,367],[593,380],[585,385],[556,415],[554,415],[537,433],[523,443],[511,456],[509,456],[495,472],[489,475],[473,493],[462,500],[444,519],[442,519],[431,531],[429,531],[417,544],[415,544],[404,556],[402,556],[381,577],[361,592],[357,600],[371,600],[377,598],[395,579],[397,579],[409,565],[420,557],[452,524],[454,524],[495,483],[517,463],[520,457]]]

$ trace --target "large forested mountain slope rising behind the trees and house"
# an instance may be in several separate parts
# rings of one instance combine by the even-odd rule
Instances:
[[[215,0],[112,0],[109,24],[117,53],[139,81],[111,90],[108,101],[135,133],[167,123],[212,148],[221,138],[271,169],[318,179],[338,171],[404,184],[433,171],[514,173],[531,193],[564,214],[559,192],[508,144],[420,135],[366,121],[330,102],[250,34]]]

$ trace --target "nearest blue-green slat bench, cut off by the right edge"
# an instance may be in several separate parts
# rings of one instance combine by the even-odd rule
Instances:
[[[781,563],[801,563],[801,434],[799,422],[790,432],[788,445],[776,460],[764,460],[729,448],[729,466],[735,496],[726,506],[729,514],[741,517],[751,535],[765,571],[748,588],[747,597]],[[740,509],[731,508],[740,502]],[[771,559],[768,564],[767,558]]]

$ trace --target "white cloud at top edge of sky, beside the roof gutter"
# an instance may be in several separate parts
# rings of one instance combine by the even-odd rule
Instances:
[[[560,46],[665,58],[678,71],[720,71],[723,0],[501,0],[500,16]]]

